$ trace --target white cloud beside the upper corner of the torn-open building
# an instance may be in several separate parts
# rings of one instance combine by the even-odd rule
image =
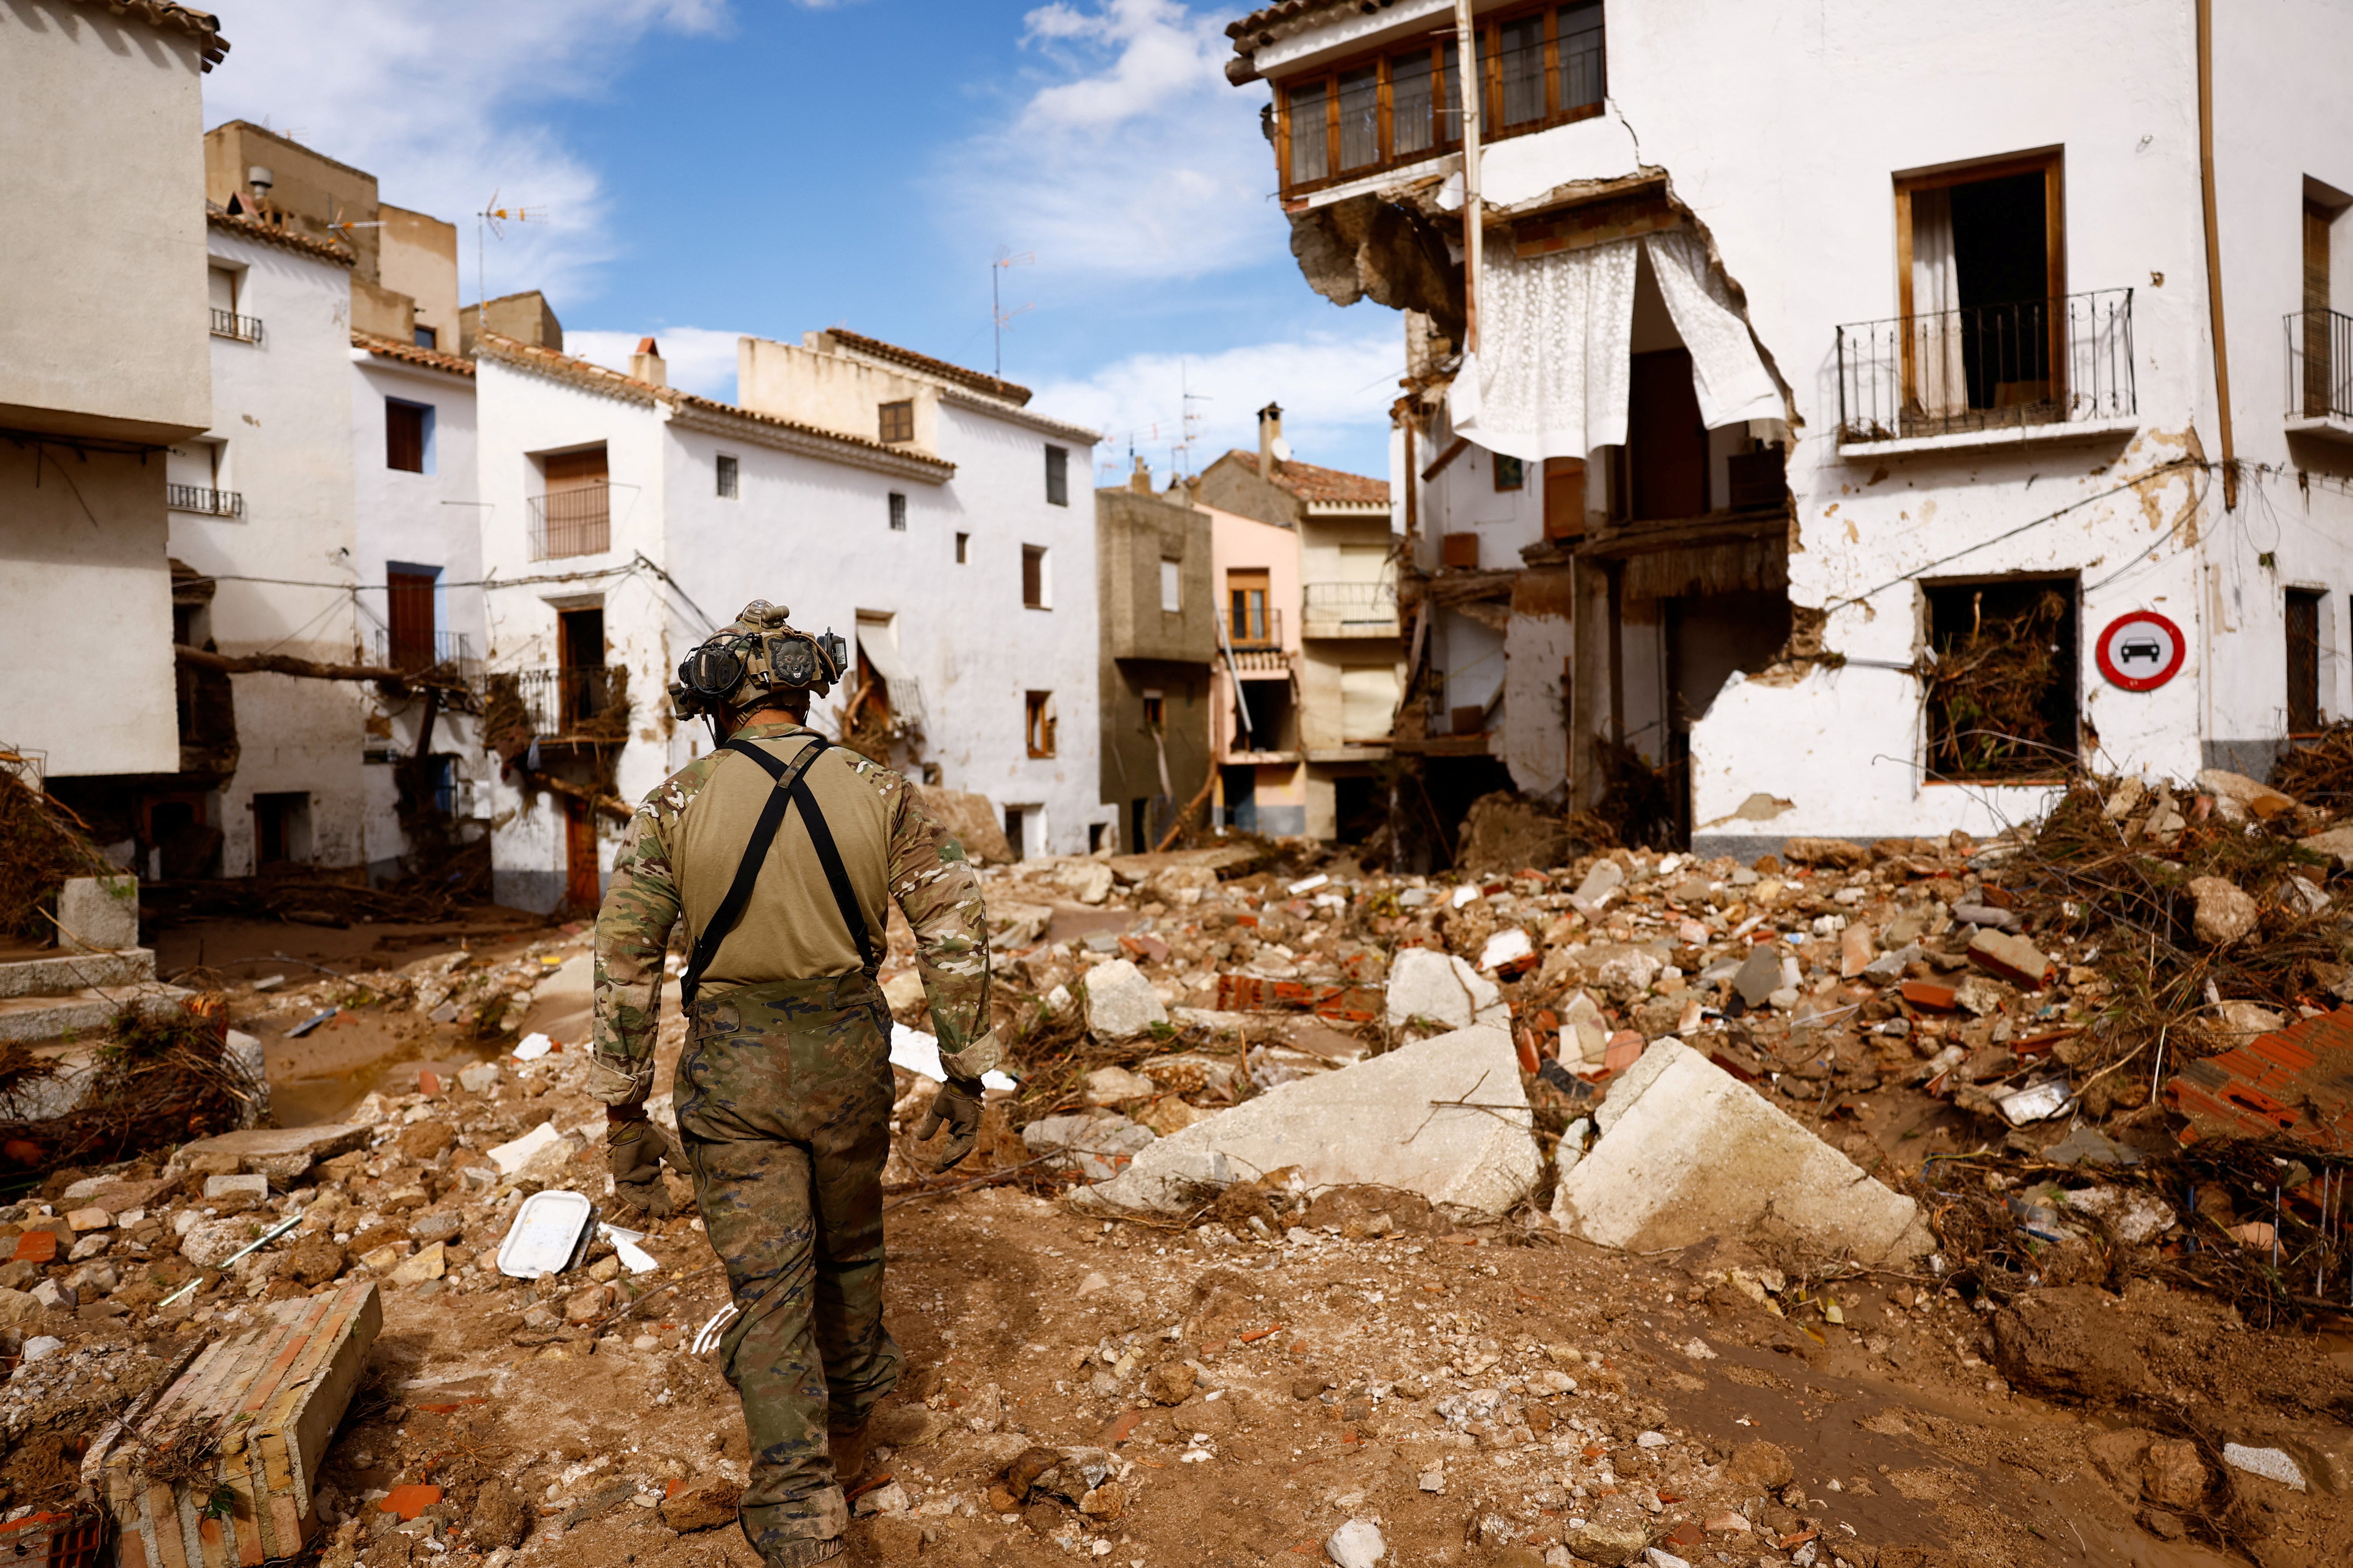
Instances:
[[[1031,12],[1028,96],[941,160],[955,233],[1033,249],[1040,270],[1108,280],[1280,256],[1266,89],[1226,82],[1224,21],[1174,0]]]

